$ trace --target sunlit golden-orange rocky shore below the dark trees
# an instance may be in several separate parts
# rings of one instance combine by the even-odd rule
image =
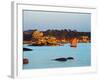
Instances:
[[[77,43],[89,43],[91,40],[88,35],[86,36],[86,34],[84,33],[82,36],[72,36],[69,38],[62,38],[62,35],[61,38],[57,38],[57,36],[45,35],[41,31],[34,31],[31,32],[30,38],[23,40],[23,44],[29,44],[29,46],[63,46],[65,43],[71,43],[73,38],[77,39]],[[27,35],[29,35],[28,32]]]

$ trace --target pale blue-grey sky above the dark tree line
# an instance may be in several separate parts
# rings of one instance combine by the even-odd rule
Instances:
[[[23,30],[45,31],[48,29],[71,29],[91,31],[91,14],[71,12],[23,11]]]

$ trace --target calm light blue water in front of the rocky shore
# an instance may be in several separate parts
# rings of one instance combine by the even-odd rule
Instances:
[[[29,59],[29,64],[24,64],[24,69],[57,68],[57,67],[81,67],[91,65],[90,43],[79,43],[76,48],[70,44],[64,46],[28,46],[33,51],[24,51],[24,58]],[[65,62],[53,61],[60,57],[74,57],[74,60]]]

